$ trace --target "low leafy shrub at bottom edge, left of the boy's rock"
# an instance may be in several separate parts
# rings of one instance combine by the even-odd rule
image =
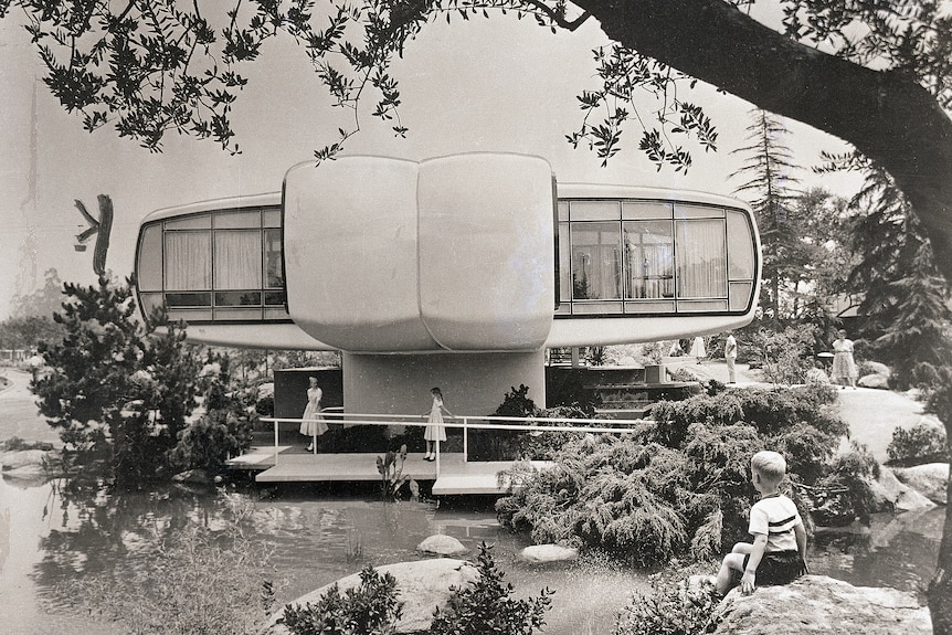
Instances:
[[[704,590],[667,585],[652,593],[635,591],[615,623],[613,635],[702,635],[713,633],[722,616],[720,600]]]

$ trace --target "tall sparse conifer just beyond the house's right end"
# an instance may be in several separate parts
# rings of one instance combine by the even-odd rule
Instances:
[[[805,260],[798,225],[791,219],[796,197],[791,186],[798,182],[793,176],[798,168],[783,141],[787,131],[780,118],[764,110],[753,110],[751,115],[747,127],[749,145],[731,152],[745,159],[731,178],[748,179],[734,192],[747,195],[760,229],[764,287],[761,306],[780,317],[782,307],[790,304],[789,298],[781,297],[784,288],[790,279],[797,278],[796,272]]]

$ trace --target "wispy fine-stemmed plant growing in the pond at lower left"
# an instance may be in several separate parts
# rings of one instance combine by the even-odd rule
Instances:
[[[137,635],[261,633],[274,604],[271,549],[242,533],[247,504],[223,499],[230,507],[223,530],[178,529],[144,567],[84,575],[75,595]]]

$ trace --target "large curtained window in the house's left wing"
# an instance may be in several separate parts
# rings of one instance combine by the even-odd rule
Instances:
[[[142,229],[138,289],[148,313],[188,321],[284,320],[281,210],[205,212]]]

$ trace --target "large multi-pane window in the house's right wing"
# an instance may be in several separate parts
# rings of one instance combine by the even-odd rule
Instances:
[[[742,311],[755,271],[743,212],[665,201],[559,201],[558,314]]]

